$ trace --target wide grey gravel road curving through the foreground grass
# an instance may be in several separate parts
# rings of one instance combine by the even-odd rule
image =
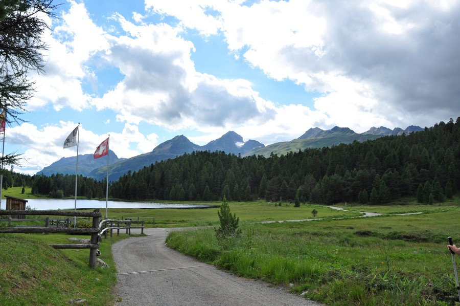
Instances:
[[[171,250],[165,246],[171,230],[145,229],[149,236],[112,246],[119,272],[115,305],[321,305]]]

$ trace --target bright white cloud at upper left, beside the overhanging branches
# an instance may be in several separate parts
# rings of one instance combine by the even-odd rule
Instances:
[[[90,95],[82,89],[82,80],[94,78],[88,66],[91,57],[108,48],[105,33],[89,18],[82,3],[70,1],[54,27],[52,36],[44,36],[49,50],[43,75],[35,75],[36,94],[28,102],[28,110],[38,110],[48,103],[54,110],[71,107],[82,111],[88,106]]]

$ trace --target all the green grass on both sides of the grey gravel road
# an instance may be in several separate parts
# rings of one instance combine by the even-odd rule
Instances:
[[[8,191],[14,188],[4,194],[29,198],[27,190],[15,195]],[[147,227],[188,227],[173,231],[168,246],[328,305],[453,305],[458,301],[452,257],[446,247],[448,236],[460,244],[458,198],[434,205],[419,205],[411,199],[386,206],[335,205],[347,211],[318,205],[280,207],[263,201],[230,202],[229,206],[239,217],[240,237],[217,239],[216,207],[109,208],[108,215],[139,217]],[[359,217],[361,212],[382,215]],[[277,222],[288,220],[291,222]],[[64,305],[77,298],[90,305],[113,304],[117,271],[110,248],[128,236],[114,235],[101,242],[100,258],[109,270],[90,269],[89,250],[48,246],[68,243],[69,237],[0,234],[0,304]]]

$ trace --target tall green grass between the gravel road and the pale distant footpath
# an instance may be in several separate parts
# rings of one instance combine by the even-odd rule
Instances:
[[[289,285],[330,305],[453,304],[447,236],[460,239],[460,208],[298,223],[241,224],[219,241],[213,228],[173,232],[170,247],[237,275]],[[241,218],[240,218],[241,220]],[[455,241],[454,241],[455,242]]]

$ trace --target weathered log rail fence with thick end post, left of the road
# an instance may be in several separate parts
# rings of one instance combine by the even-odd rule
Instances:
[[[1,210],[0,215],[54,215],[93,217],[91,228],[67,228],[67,227],[0,227],[0,233],[71,233],[90,234],[89,244],[65,244],[51,245],[56,249],[89,249],[89,267],[96,268],[96,254],[99,248],[99,218],[102,214],[99,209],[93,212],[59,211],[59,210]],[[22,220],[24,221],[24,220]]]

